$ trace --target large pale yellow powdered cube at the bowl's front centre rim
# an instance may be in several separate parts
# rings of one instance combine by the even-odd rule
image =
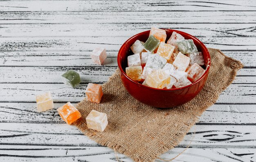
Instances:
[[[163,89],[166,85],[170,84],[170,75],[166,74],[164,70],[158,69],[148,75],[146,84],[149,87]]]

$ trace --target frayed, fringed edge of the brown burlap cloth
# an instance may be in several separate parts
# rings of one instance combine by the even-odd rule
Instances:
[[[232,82],[233,80],[235,79],[236,77],[236,73],[239,69],[242,69],[243,68],[243,64],[238,61],[238,60],[235,60],[233,58],[230,58],[228,56],[226,56],[224,53],[222,53],[219,49],[211,49],[211,48],[208,48],[209,51],[212,51],[212,50],[217,50],[221,55],[223,55],[226,59],[229,59],[232,64],[230,64],[230,68],[231,69],[236,69],[235,71],[233,71],[232,75],[230,75],[230,78],[229,78],[229,82],[227,82],[227,84],[223,85],[222,89],[219,89],[219,94],[224,91]],[[117,70],[115,71],[115,73],[110,76],[108,82],[111,82],[112,78],[115,77],[115,75],[118,75],[119,73],[119,69],[117,68]],[[105,84],[108,84],[108,82],[106,82]],[[103,86],[105,85],[103,84]],[[150,162],[153,162],[155,161],[156,158],[159,157],[159,155],[162,155],[163,153],[165,153],[166,151],[174,148],[175,146],[177,146],[177,144],[179,144],[183,138],[184,138],[184,135],[186,135],[186,133],[189,131],[189,129],[191,128],[191,126],[193,126],[195,124],[195,122],[198,122],[198,119],[200,117],[200,115],[202,115],[202,113],[207,109],[209,108],[211,105],[213,105],[219,98],[219,94],[216,94],[211,100],[210,102],[202,107],[201,111],[198,111],[197,113],[195,113],[195,118],[189,122],[186,122],[184,123],[184,125],[182,126],[182,129],[180,129],[180,131],[178,131],[175,136],[173,137],[173,140],[171,140],[170,142],[166,142],[165,144],[162,145],[162,147],[160,147],[157,151],[157,154],[155,154],[154,156],[151,156],[151,160]],[[83,100],[83,101],[86,101],[86,98]],[[79,102],[77,104],[78,107],[82,106],[83,105],[83,101]],[[130,151],[126,150],[125,148],[123,148],[122,146],[120,145],[117,145],[115,143],[112,143],[112,142],[109,142],[109,141],[106,141],[106,140],[103,140],[102,138],[98,137],[96,133],[93,133],[93,132],[88,132],[88,131],[85,131],[87,129],[87,127],[85,126],[86,124],[84,124],[83,122],[79,122],[79,120],[77,122],[74,122],[74,125],[76,125],[78,127],[78,129],[80,129],[85,135],[87,135],[90,139],[94,140],[95,142],[101,144],[102,146],[108,146],[109,148],[112,148],[115,152],[119,152],[119,153],[122,153],[130,158],[132,158],[132,160],[134,160],[135,162],[144,162],[145,159],[141,159],[140,157],[137,157],[135,155],[133,155]]]

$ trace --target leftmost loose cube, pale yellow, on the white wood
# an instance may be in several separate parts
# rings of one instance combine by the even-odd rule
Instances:
[[[53,109],[53,100],[50,92],[36,96],[36,107],[38,112]]]

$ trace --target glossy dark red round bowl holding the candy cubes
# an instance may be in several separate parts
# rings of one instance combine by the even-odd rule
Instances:
[[[127,91],[134,97],[136,100],[148,104],[153,107],[159,108],[171,108],[176,107],[178,105],[184,104],[193,98],[203,89],[204,84],[207,80],[207,76],[209,73],[209,67],[211,64],[210,54],[204,44],[198,40],[197,38],[191,36],[188,33],[184,33],[182,31],[172,30],[172,29],[164,29],[167,34],[168,40],[171,37],[173,31],[182,35],[185,39],[192,39],[198,48],[198,51],[201,51],[204,56],[204,69],[206,69],[205,73],[202,77],[190,84],[186,87],[176,88],[176,89],[155,89],[151,87],[144,86],[138,82],[130,79],[126,73],[125,68],[127,67],[127,57],[128,55],[132,55],[132,51],[130,47],[136,40],[140,40],[146,42],[149,36],[150,31],[144,31],[142,33],[138,33],[137,35],[129,38],[124,44],[121,46],[118,56],[117,63],[120,69],[121,81]]]

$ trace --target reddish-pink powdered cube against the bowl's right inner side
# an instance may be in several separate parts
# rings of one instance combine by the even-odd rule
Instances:
[[[188,79],[191,82],[195,82],[204,74],[204,69],[197,63],[194,63],[186,70],[186,73],[188,73]]]

